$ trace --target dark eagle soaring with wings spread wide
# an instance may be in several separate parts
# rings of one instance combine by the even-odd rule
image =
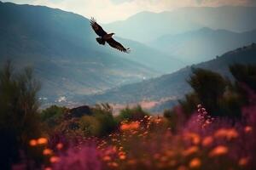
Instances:
[[[99,37],[96,38],[96,41],[99,44],[105,45],[105,42],[108,42],[108,44],[111,47],[113,47],[113,48],[116,48],[116,49],[118,49],[118,50],[120,50],[122,52],[125,52],[125,53],[129,53],[130,52],[130,48],[124,48],[124,46],[122,44],[120,44],[119,42],[115,41],[113,39],[114,33],[108,34],[106,31],[104,31],[102,29],[102,26],[100,26],[100,25],[98,25],[96,23],[96,20],[94,18],[91,18],[90,26],[96,32],[96,34],[99,36]]]

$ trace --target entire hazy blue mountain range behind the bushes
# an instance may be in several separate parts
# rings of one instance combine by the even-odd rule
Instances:
[[[131,48],[124,54],[99,45],[90,20],[79,14],[0,2],[0,66],[7,59],[18,71],[31,66],[42,82],[44,105],[110,102],[164,108],[191,90],[186,83],[191,66],[230,76],[228,65],[255,62],[255,47],[245,47],[256,41],[254,9],[179,8],[103,25]]]

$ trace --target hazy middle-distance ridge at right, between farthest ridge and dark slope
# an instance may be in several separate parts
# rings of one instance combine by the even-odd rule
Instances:
[[[151,46],[179,56],[188,64],[195,64],[252,42],[256,42],[256,30],[237,33],[205,27],[183,34],[165,35],[154,40]]]

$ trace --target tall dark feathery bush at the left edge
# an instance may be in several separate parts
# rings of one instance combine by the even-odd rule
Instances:
[[[26,149],[29,139],[40,136],[39,88],[30,68],[15,74],[7,62],[0,71],[1,165],[18,161],[19,149]]]

